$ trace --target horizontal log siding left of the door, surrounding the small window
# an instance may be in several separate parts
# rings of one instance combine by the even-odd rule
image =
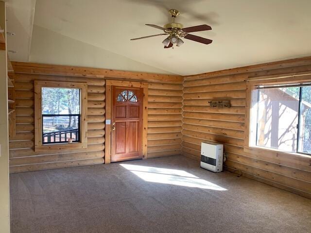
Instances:
[[[105,80],[81,77],[16,73],[17,133],[10,138],[10,172],[85,166],[104,163]],[[86,82],[87,149],[35,152],[34,81]]]

